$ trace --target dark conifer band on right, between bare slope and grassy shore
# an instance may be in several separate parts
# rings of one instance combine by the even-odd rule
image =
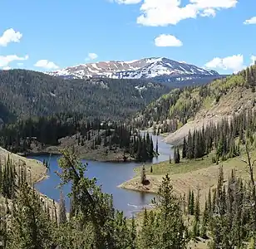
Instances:
[[[246,129],[252,133],[256,131],[256,111],[244,111],[230,120],[224,119],[189,132],[188,137],[183,139],[182,159],[199,159],[213,150],[216,154],[214,162],[234,158],[240,154],[240,144],[245,143]]]

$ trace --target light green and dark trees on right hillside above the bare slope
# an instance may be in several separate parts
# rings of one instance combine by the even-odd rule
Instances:
[[[171,90],[140,111],[133,124],[136,128],[155,129],[156,134],[175,132],[188,120],[193,119],[198,110],[211,103],[217,104],[220,98],[236,87],[251,89],[256,85],[256,65],[249,66],[237,75],[212,81],[207,85],[189,86]],[[240,98],[243,97],[241,90]],[[253,100],[253,103],[255,100]]]

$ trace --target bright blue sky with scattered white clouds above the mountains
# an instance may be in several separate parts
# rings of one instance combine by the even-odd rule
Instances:
[[[167,57],[229,74],[255,44],[255,0],[0,0],[4,70]]]

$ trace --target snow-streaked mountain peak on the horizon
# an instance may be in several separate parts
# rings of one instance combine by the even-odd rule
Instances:
[[[111,78],[111,79],[151,79],[160,82],[190,81],[200,79],[210,81],[219,77],[213,70],[205,70],[185,62],[173,61],[165,57],[144,58],[135,61],[101,61],[70,66],[62,70],[47,72],[51,76],[64,78]]]

